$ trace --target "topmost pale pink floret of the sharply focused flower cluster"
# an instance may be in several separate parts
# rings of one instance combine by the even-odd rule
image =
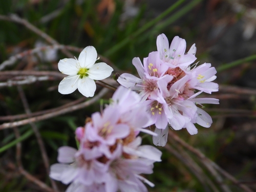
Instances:
[[[193,63],[197,58],[195,44],[190,48],[187,54],[186,41],[183,38],[175,36],[169,46],[167,37],[164,34],[157,37],[157,51],[159,52],[160,59],[168,63],[171,68],[186,67]]]

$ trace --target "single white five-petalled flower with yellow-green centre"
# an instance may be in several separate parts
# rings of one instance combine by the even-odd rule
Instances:
[[[93,97],[96,90],[94,80],[109,77],[113,68],[104,62],[95,63],[97,52],[93,46],[82,50],[78,59],[61,59],[58,69],[61,73],[69,75],[59,83],[58,91],[61,94],[73,93],[76,89],[86,96]]]

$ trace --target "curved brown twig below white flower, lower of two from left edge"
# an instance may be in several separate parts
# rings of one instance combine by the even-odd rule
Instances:
[[[28,123],[31,123],[31,122],[37,122],[37,121],[41,121],[41,120],[45,120],[45,119],[50,119],[52,117],[55,117],[55,116],[58,116],[58,115],[61,115],[61,114],[70,113],[70,112],[85,108],[86,106],[89,106],[92,103],[96,102],[98,99],[100,99],[108,91],[109,91],[108,89],[103,88],[99,92],[99,94],[94,96],[92,99],[90,99],[86,102],[77,104],[77,105],[70,106],[69,108],[58,110],[56,112],[52,112],[52,113],[48,113],[48,114],[45,114],[45,115],[32,117],[32,118],[28,118],[28,119],[24,119],[24,120],[20,120],[20,121],[3,123],[3,124],[0,125],[0,130],[8,129],[8,128],[13,127],[13,126],[25,125],[25,124],[28,124]]]

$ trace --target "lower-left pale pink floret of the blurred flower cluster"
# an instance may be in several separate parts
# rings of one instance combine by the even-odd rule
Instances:
[[[108,166],[98,162],[96,159],[85,161],[83,150],[75,150],[69,146],[60,147],[58,150],[58,161],[51,165],[50,177],[64,184],[79,182],[84,185],[101,183],[103,174]],[[69,163],[69,164],[67,164]]]

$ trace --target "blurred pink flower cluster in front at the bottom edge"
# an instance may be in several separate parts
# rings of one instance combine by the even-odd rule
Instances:
[[[141,97],[119,87],[110,105],[92,114],[84,127],[78,127],[79,149],[60,147],[58,161],[50,170],[52,179],[71,185],[66,192],[147,191],[143,182],[153,183],[140,174],[153,173],[153,163],[161,161],[161,152],[141,145],[140,132],[152,124]]]

